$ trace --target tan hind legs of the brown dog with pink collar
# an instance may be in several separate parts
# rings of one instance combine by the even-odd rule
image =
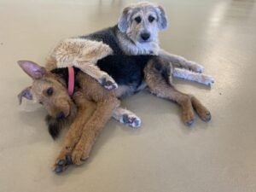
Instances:
[[[195,119],[193,107],[201,119],[208,121],[211,114],[195,96],[189,96],[176,90],[172,84],[168,84],[163,75],[154,67],[154,62],[149,61],[144,69],[145,81],[150,92],[154,95],[177,102],[182,108],[182,119],[185,125],[192,125]]]

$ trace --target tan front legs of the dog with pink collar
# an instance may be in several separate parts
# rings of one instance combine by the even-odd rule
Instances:
[[[81,160],[89,157],[96,137],[111,118],[113,110],[119,106],[113,91],[103,89],[87,74],[79,73],[78,76],[81,89],[73,97],[78,106],[78,114],[56,160],[65,160],[71,155],[74,165],[80,165]],[[56,166],[59,166],[58,163]]]

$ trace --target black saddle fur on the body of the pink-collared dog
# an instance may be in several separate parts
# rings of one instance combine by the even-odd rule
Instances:
[[[169,84],[172,66],[156,55],[109,55],[99,60],[97,66],[119,85],[127,85],[137,90],[143,82],[144,68],[149,61],[153,62],[157,73],[161,73]]]

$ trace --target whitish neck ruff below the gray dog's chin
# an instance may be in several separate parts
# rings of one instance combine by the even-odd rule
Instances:
[[[124,32],[119,30],[117,38],[119,39],[120,48],[126,55],[158,55],[160,50],[158,39],[148,43],[133,42]]]

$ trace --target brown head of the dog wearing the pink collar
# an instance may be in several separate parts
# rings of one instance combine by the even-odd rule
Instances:
[[[58,132],[52,131],[58,131],[61,121],[72,119],[76,111],[65,81],[32,61],[18,61],[18,64],[33,80],[32,85],[21,90],[18,95],[20,104],[22,98],[42,104],[48,113],[46,121],[49,132],[52,137],[56,137]]]

